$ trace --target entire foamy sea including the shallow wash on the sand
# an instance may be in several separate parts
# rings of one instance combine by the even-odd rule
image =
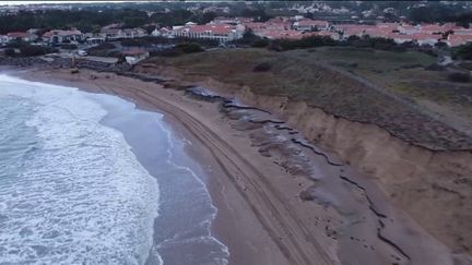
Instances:
[[[227,264],[200,166],[157,112],[0,75],[0,264]]]

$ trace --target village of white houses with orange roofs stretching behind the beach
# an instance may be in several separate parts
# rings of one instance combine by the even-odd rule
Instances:
[[[105,41],[120,39],[139,39],[143,37],[161,37],[166,39],[208,39],[225,46],[244,37],[248,31],[251,34],[274,39],[303,39],[310,36],[324,36],[333,40],[345,40],[352,36],[376,37],[392,39],[401,45],[405,43],[423,47],[457,47],[472,41],[472,28],[458,26],[455,23],[444,24],[410,24],[408,22],[376,24],[340,24],[326,20],[311,20],[302,15],[278,16],[266,22],[255,22],[250,17],[215,17],[206,24],[199,25],[187,22],[184,25],[160,27],[157,24],[146,25],[153,31],[141,27],[123,28],[122,24],[104,26],[99,32],[83,33],[76,28],[69,31],[52,29],[42,32],[42,28],[31,28],[26,32],[12,32],[0,35],[0,45],[8,46],[14,41],[27,43],[35,46],[60,47],[72,45],[81,51]],[[149,56],[145,48],[132,48],[123,53],[130,57],[129,63],[134,63]]]

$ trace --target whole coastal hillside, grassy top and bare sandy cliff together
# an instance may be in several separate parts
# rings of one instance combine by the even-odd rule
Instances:
[[[212,50],[134,71],[204,85],[267,109],[380,184],[456,252],[472,250],[472,85],[416,51],[347,47]]]

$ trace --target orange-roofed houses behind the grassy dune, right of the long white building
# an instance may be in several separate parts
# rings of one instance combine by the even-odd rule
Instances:
[[[275,17],[268,22],[246,22],[243,25],[261,37],[270,39],[300,39],[306,36],[329,36],[333,39],[347,39],[350,36],[370,36],[391,38],[398,44],[414,41],[418,45],[434,46],[444,43],[449,47],[472,41],[472,28],[446,24],[377,23],[332,24],[328,21],[304,17]]]

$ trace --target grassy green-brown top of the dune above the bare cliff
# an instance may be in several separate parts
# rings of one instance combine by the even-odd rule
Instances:
[[[429,107],[440,106],[446,115],[472,115],[470,83],[451,82],[448,70],[425,70],[435,62],[417,51],[354,47],[225,49],[145,61],[172,67],[187,81],[212,77],[247,85],[256,94],[305,100],[337,116],[379,124],[408,141],[458,147],[464,143],[461,134],[416,110],[437,112],[441,109]]]

